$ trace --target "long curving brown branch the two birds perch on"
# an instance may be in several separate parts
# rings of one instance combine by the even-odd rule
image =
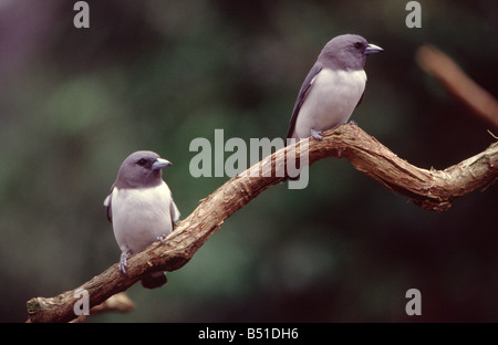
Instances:
[[[281,167],[287,151],[293,149],[294,145],[282,148],[258,165],[260,168],[268,165]],[[295,157],[299,159],[299,151]],[[349,159],[357,170],[393,192],[411,198],[426,210],[447,210],[455,199],[476,189],[484,190],[498,179],[498,143],[445,170],[427,170],[398,158],[360,127],[343,125],[328,130],[321,142],[310,139],[309,164],[325,157]],[[28,301],[30,321],[68,322],[75,318],[74,292],[79,289],[89,292],[90,306],[94,306],[113,294],[127,290],[145,274],[180,269],[228,217],[283,179],[284,177],[249,177],[249,174],[231,178],[201,200],[185,220],[178,222],[164,243],[155,242],[131,257],[127,276],[114,264],[73,291],[49,299],[31,299]]]

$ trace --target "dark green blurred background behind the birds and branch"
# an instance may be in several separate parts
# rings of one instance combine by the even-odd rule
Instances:
[[[445,168],[498,128],[415,62],[432,43],[498,95],[498,2],[0,0],[0,321],[117,262],[102,206],[122,160],[152,149],[183,217],[225,178],[193,178],[196,137],[281,137],[331,38],[359,33],[369,58],[353,119],[400,157]],[[226,155],[228,157],[229,154]],[[169,283],[128,290],[136,310],[95,322],[497,322],[498,189],[424,211],[325,159],[303,190],[276,186],[230,217]],[[422,292],[422,316],[405,293]]]

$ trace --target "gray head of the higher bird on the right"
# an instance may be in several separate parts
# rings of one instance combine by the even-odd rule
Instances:
[[[325,67],[333,70],[363,70],[366,55],[382,52],[382,48],[370,44],[357,34],[341,34],[330,40],[319,55]]]

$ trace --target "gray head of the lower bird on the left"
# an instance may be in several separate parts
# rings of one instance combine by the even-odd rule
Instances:
[[[159,186],[163,181],[162,169],[170,165],[169,160],[160,158],[153,151],[133,153],[121,165],[114,186],[117,188]]]

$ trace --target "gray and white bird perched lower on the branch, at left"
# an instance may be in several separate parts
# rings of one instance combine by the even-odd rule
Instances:
[[[141,150],[129,155],[121,165],[111,192],[104,200],[107,219],[122,251],[120,271],[126,274],[126,259],[163,240],[179,219],[172,191],[162,178],[162,169],[172,163],[159,155]],[[166,284],[164,272],[142,279],[147,289]]]

